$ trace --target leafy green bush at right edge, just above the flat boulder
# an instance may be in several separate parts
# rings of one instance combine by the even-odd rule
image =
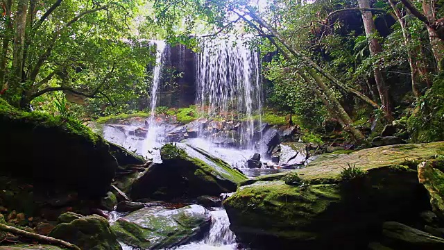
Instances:
[[[407,120],[413,142],[444,140],[444,75],[437,76],[434,85],[416,104]]]

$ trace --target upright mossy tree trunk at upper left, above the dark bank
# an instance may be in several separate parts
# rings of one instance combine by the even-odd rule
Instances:
[[[26,11],[28,10],[28,0],[19,0],[17,3],[17,14],[15,15],[15,37],[14,50],[12,53],[12,78],[10,85],[10,94],[15,95],[21,89],[23,72],[23,47],[26,32]],[[19,106],[19,99],[15,97],[11,100],[15,106]]]

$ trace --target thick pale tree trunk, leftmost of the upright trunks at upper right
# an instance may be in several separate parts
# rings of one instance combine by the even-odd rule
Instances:
[[[370,8],[370,2],[368,0],[358,0],[359,8]],[[370,49],[370,56],[376,56],[382,52],[381,45],[379,44],[376,35],[376,26],[373,22],[373,15],[370,11],[361,11],[362,21],[364,22],[364,29],[368,39],[368,48]],[[383,109],[388,115],[391,115],[391,101],[388,86],[386,85],[385,77],[383,76],[381,69],[377,63],[373,65],[373,73],[375,74],[375,81],[377,91],[379,92],[379,98]]]

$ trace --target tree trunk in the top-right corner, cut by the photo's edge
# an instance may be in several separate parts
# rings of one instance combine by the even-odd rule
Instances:
[[[434,3],[434,1],[432,1],[432,3]],[[429,0],[422,0],[422,10],[429,24],[434,24],[436,20],[436,13],[434,12],[436,6],[432,3]],[[427,31],[429,32],[433,56],[438,64],[438,71],[441,71],[444,66],[441,65],[444,57],[444,42],[438,37],[438,33],[436,33],[436,30],[432,26],[427,25]]]

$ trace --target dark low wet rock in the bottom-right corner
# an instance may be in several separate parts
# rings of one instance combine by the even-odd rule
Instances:
[[[382,234],[397,249],[444,249],[444,239],[399,222],[384,222]]]

